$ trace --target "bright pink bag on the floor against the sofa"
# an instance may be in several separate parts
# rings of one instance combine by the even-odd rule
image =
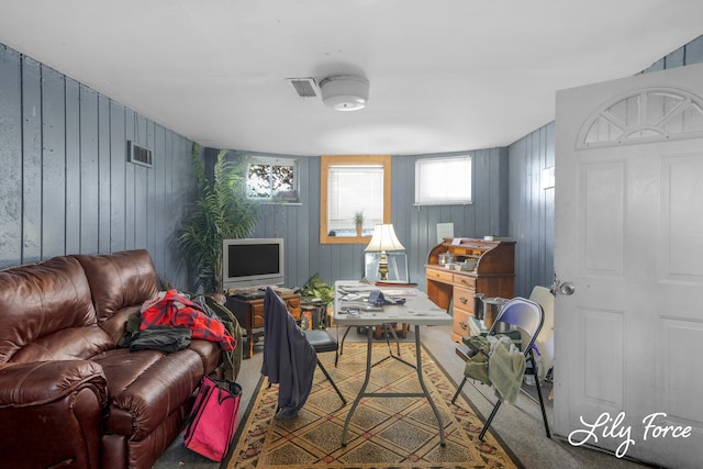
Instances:
[[[242,388],[236,382],[202,377],[190,413],[183,443],[208,459],[221,461],[230,450],[237,427]]]

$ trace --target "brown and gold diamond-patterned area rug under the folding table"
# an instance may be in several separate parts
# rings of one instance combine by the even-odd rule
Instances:
[[[342,447],[342,431],[347,412],[364,382],[365,343],[347,343],[335,368],[335,354],[320,358],[347,399],[339,397],[317,369],[305,405],[292,420],[274,418],[278,387],[259,383],[250,412],[239,425],[226,469],[239,468],[516,468],[491,432],[483,442],[478,435],[483,422],[467,409],[469,403],[450,403],[456,386],[423,347],[422,368],[425,384],[444,423],[446,446],[439,445],[437,420],[426,399],[365,398],[349,424],[347,446]],[[393,353],[395,349],[393,348]],[[421,392],[414,368],[389,356],[386,344],[373,345],[371,381],[367,392]],[[401,357],[415,362],[415,345],[401,344]],[[464,399],[464,398],[461,398]]]

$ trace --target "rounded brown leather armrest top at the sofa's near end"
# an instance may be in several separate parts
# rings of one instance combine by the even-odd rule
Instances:
[[[41,405],[92,387],[100,405],[108,401],[102,367],[90,360],[0,365],[0,409]]]

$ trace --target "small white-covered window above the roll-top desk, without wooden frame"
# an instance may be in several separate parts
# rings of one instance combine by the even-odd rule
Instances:
[[[425,158],[415,161],[415,204],[471,203],[471,156]]]

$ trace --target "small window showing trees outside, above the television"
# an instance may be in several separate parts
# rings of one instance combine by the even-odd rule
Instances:
[[[290,158],[250,157],[246,187],[249,199],[298,202],[298,161]]]

